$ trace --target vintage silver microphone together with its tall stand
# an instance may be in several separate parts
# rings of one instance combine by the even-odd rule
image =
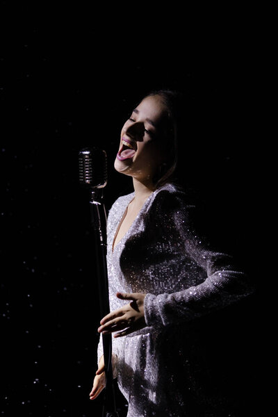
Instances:
[[[103,202],[103,190],[107,183],[107,158],[104,150],[98,148],[81,149],[79,152],[79,182],[90,190],[91,224],[95,231],[95,251],[97,254],[99,306],[101,318],[103,318],[110,313],[106,264],[106,210]],[[102,334],[102,342],[106,375],[102,416],[117,417],[113,385],[111,334]]]

